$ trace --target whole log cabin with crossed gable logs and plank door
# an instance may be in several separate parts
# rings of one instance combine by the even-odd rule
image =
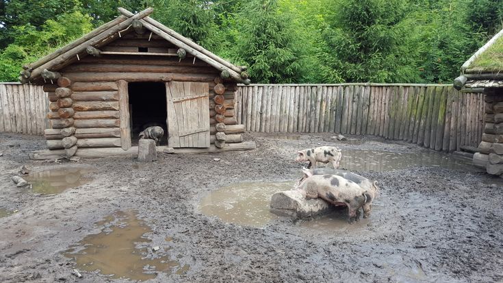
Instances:
[[[160,149],[199,153],[253,149],[237,125],[235,66],[151,19],[148,8],[120,16],[23,66],[23,84],[43,85],[50,101],[49,151],[38,156],[138,152],[145,127],[164,129]]]

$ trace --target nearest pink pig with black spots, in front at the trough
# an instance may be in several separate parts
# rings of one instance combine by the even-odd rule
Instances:
[[[359,208],[372,200],[367,190],[337,175],[312,175],[297,189],[306,199],[319,197],[334,206],[347,206],[349,223],[358,220]]]

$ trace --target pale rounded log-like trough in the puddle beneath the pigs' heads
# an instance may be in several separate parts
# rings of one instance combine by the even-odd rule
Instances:
[[[331,205],[323,199],[305,199],[299,190],[286,190],[271,197],[271,212],[298,219],[325,214]]]

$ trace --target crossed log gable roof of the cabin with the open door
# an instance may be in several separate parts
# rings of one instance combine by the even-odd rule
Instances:
[[[42,84],[44,82],[44,73],[47,73],[47,71],[58,71],[85,56],[90,56],[88,51],[92,47],[99,49],[99,47],[120,38],[121,33],[126,34],[133,31],[133,26],[135,26],[133,23],[141,23],[147,32],[168,40],[180,49],[184,49],[187,54],[218,69],[218,71],[222,72],[222,77],[228,77],[242,84],[250,84],[245,66],[235,66],[197,45],[189,38],[185,38],[169,27],[162,25],[162,23],[155,21],[149,17],[149,14],[153,12],[153,8],[147,8],[137,14],[133,14],[124,8],[118,8],[118,10],[121,15],[116,19],[97,27],[92,32],[40,58],[36,62],[23,66],[20,81],[22,83]]]

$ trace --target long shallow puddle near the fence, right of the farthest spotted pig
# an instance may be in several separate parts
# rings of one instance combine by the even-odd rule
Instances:
[[[342,149],[341,168],[349,171],[394,171],[410,167],[443,167],[447,169],[480,171],[470,162],[458,160],[435,151],[399,153],[361,149]]]

